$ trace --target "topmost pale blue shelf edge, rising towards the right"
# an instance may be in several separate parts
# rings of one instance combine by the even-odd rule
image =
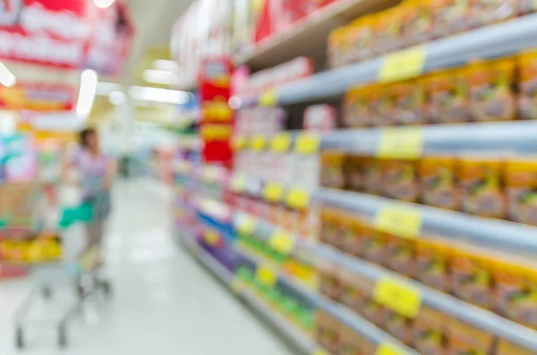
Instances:
[[[513,54],[537,46],[535,33],[537,33],[537,13],[435,40],[424,45],[426,52],[424,70],[429,72],[462,65],[477,58],[489,59]],[[307,33],[307,36],[317,38],[312,33]],[[374,58],[320,72],[310,78],[277,87],[278,102],[281,105],[291,105],[342,95],[354,85],[376,81],[381,63],[382,57]],[[243,106],[256,104],[258,100],[258,97],[241,98]]]

